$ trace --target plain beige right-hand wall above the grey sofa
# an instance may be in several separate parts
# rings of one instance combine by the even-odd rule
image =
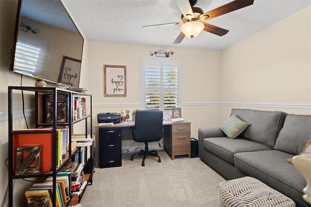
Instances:
[[[231,108],[311,114],[311,6],[224,49],[221,59],[222,122]]]

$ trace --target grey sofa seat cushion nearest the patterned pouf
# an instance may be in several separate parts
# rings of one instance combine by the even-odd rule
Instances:
[[[255,177],[289,196],[296,206],[307,206],[302,199],[306,180],[286,161],[292,156],[277,150],[241,152],[234,155],[234,165],[245,175]]]

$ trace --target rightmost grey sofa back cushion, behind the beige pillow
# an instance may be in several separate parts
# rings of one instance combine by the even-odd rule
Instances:
[[[298,155],[311,139],[311,115],[288,114],[274,149]]]

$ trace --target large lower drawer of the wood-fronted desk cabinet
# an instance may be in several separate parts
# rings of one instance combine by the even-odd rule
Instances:
[[[175,133],[172,136],[172,153],[174,155],[178,154],[189,154],[191,152],[190,148],[190,133]]]

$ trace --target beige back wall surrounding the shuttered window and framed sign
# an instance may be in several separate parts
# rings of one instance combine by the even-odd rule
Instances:
[[[173,50],[175,54],[170,58],[150,56],[149,51],[157,50]],[[191,122],[192,137],[197,137],[199,127],[218,125],[217,114],[220,107],[209,104],[220,100],[220,51],[90,41],[89,91],[93,95],[93,123],[97,124],[96,114],[99,112],[120,112],[125,108],[133,110],[140,108],[140,59],[181,63],[182,116]],[[104,64],[126,65],[126,97],[104,96]],[[213,118],[208,118],[212,116]],[[126,145],[123,143],[123,146]]]

